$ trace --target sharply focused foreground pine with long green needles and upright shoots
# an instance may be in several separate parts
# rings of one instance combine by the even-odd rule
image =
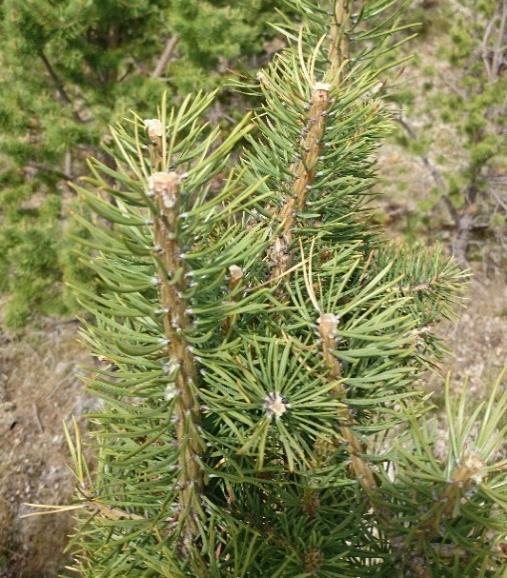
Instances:
[[[253,120],[162,101],[76,186],[103,400],[96,472],[68,436],[81,575],[501,577],[500,379],[470,417],[447,395],[443,444],[419,383],[464,274],[369,219],[393,5],[291,3]]]

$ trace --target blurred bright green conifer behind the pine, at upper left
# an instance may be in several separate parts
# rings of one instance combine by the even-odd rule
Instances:
[[[154,110],[163,90],[224,82],[267,54],[277,2],[6,0],[0,8],[0,291],[5,322],[72,305],[69,181],[105,150],[107,127],[130,109]],[[227,98],[224,96],[224,102]],[[217,101],[210,116],[227,116]]]

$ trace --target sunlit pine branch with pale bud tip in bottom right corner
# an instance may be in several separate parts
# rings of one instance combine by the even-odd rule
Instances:
[[[445,559],[449,556],[466,560],[481,549],[484,549],[483,564],[490,556],[494,558],[493,536],[499,532],[501,538],[505,529],[502,522],[505,514],[501,514],[497,507],[501,505],[505,510],[507,505],[501,482],[505,459],[501,459],[499,451],[504,445],[506,431],[507,393],[498,395],[504,377],[505,369],[494,383],[489,399],[465,414],[468,402],[466,384],[456,397],[451,393],[448,376],[445,384],[448,431],[437,430],[439,438],[435,440],[431,439],[435,434],[427,437],[429,433],[424,429],[427,424],[421,427],[413,423],[414,446],[411,450],[403,450],[407,461],[399,463],[403,469],[399,480],[403,489],[400,491],[398,486],[394,493],[396,500],[407,500],[406,508],[415,510],[419,507],[421,513],[409,526],[403,527],[402,520],[398,520],[397,527],[394,526],[398,538],[393,543],[402,563],[401,576],[405,576],[405,569],[410,569],[416,576],[431,578],[435,575],[434,564],[443,561],[445,567]],[[437,458],[436,449],[442,447],[443,441],[446,451],[442,455],[442,449],[439,449]],[[495,459],[499,461],[492,464]],[[419,483],[414,484],[418,478]],[[407,479],[409,482],[403,487]],[[429,494],[421,480],[432,484]],[[427,506],[421,507],[425,501]],[[486,531],[489,536],[482,543],[479,536]],[[436,559],[428,556],[428,547],[430,552],[437,554]],[[490,559],[491,568],[494,567],[492,562]]]

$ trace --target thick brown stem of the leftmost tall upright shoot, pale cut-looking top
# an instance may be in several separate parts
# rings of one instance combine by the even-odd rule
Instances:
[[[160,300],[169,357],[168,371],[175,372],[176,436],[179,447],[179,523],[185,549],[197,535],[195,517],[201,513],[203,475],[199,454],[204,442],[199,433],[200,409],[195,393],[197,369],[184,333],[191,321],[182,298],[185,290],[185,267],[175,235],[181,193],[181,178],[177,173],[154,173],[150,191],[155,196],[159,217],[155,219],[156,251],[160,261]]]

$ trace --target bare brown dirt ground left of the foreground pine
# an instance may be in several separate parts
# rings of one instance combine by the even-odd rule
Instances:
[[[89,410],[78,368],[89,355],[75,324],[0,334],[0,578],[53,578],[66,560],[70,515],[21,518],[29,503],[65,504],[73,476],[62,422]]]

